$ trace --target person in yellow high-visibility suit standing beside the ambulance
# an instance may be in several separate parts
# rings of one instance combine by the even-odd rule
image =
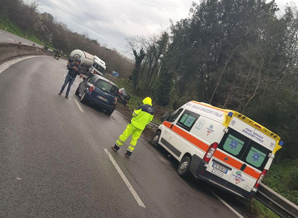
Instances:
[[[136,141],[140,137],[146,125],[153,119],[154,110],[152,108],[151,98],[145,98],[143,103],[144,104],[140,105],[138,108],[136,108],[136,110],[134,110],[132,113],[133,118],[127,125],[126,129],[122,135],[119,136],[119,139],[116,141],[115,145],[111,146],[114,151],[118,151],[125,140],[132,135],[130,146],[128,146],[128,149],[125,153],[126,157],[131,156],[131,153],[134,151],[134,147],[136,146]]]

